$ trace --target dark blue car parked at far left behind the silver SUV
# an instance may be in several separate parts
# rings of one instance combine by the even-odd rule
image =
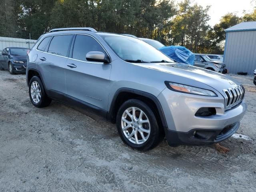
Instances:
[[[0,70],[10,74],[26,73],[28,48],[7,47],[0,54]]]

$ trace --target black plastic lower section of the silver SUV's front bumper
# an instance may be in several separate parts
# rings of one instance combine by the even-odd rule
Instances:
[[[223,129],[208,130],[195,129],[189,132],[176,132],[172,130],[166,131],[166,139],[170,146],[179,145],[212,145],[232,136],[238,130],[240,122],[226,126]]]

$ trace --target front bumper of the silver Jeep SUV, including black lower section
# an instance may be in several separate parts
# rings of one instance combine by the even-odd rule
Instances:
[[[172,146],[207,145],[220,142],[239,128],[239,122],[243,118],[247,105],[244,100],[229,110],[224,110],[224,98],[197,96],[174,92],[166,88],[162,91],[160,101],[168,128],[165,129],[166,139]],[[195,116],[200,108],[215,108],[216,114],[212,116]],[[219,137],[224,128],[234,126],[234,132],[228,132],[224,137]],[[194,136],[194,132],[198,134]]]

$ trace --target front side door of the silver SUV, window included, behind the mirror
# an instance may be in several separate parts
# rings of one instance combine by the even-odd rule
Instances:
[[[106,54],[92,36],[76,35],[66,62],[67,95],[107,110],[111,64],[87,61],[86,54],[90,51]]]

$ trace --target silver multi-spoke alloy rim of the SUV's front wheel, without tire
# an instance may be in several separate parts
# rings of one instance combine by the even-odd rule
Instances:
[[[150,136],[150,122],[140,108],[127,108],[122,114],[121,126],[124,136],[134,144],[143,144]]]

